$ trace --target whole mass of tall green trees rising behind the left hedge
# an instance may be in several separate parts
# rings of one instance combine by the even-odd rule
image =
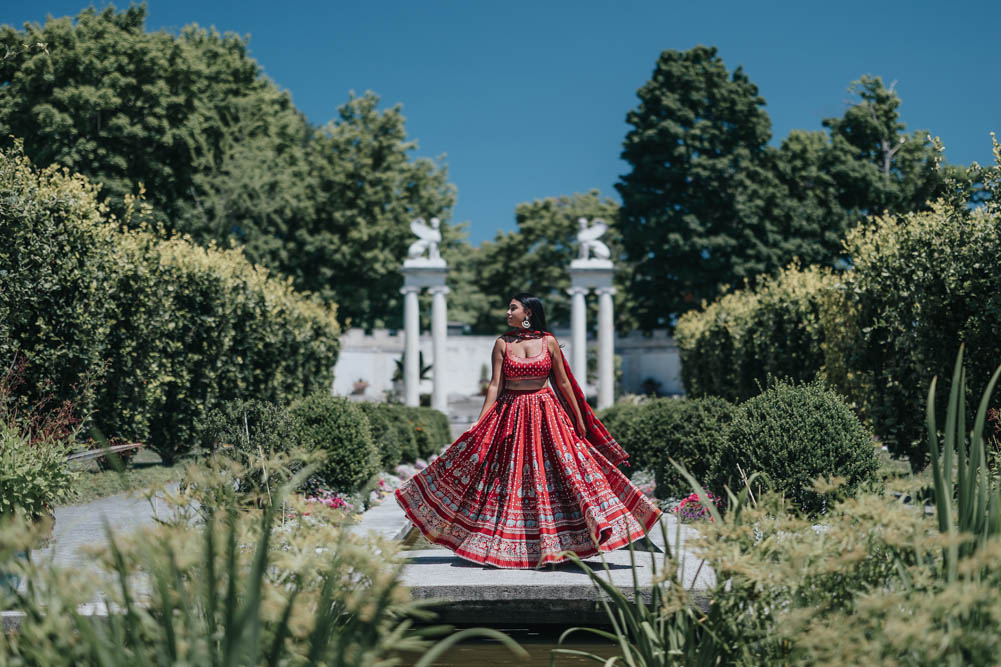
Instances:
[[[166,231],[242,245],[359,325],[399,319],[409,219],[447,221],[438,161],[412,159],[398,106],[351,97],[325,127],[249,57],[197,26],[147,32],[145,5],[0,28],[0,136],[39,165],[102,185],[113,209],[141,183]],[[24,43],[47,49],[23,49]]]

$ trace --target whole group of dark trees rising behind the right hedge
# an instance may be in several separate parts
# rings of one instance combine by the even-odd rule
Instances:
[[[743,69],[731,74],[705,46],[661,55],[627,116],[632,170],[617,185],[641,325],[670,326],[794,258],[844,266],[841,239],[863,217],[924,208],[947,177],[966,179],[940,167],[927,131],[905,133],[893,86],[864,76],[851,90],[827,132],[794,130],[774,147]]]

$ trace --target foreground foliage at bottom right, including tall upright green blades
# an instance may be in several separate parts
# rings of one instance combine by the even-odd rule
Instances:
[[[788,499],[756,497],[751,480],[728,490],[727,512],[705,505],[696,553],[717,584],[710,604],[691,606],[678,562],[665,557],[648,604],[592,575],[610,596],[608,614],[627,665],[994,664],[1001,651],[1001,483],[986,470],[984,423],[999,368],[973,422],[965,420],[965,372],[957,358],[937,429],[935,385],[926,402],[936,514],[899,496],[833,501],[822,519]],[[968,439],[968,440],[967,440]],[[700,497],[703,487],[679,467]],[[954,476],[955,473],[955,476]],[[836,498],[836,484],[816,492]],[[675,552],[676,553],[676,552]],[[667,566],[667,569],[665,568]],[[590,573],[590,570],[586,570]],[[599,630],[590,630],[602,634]]]

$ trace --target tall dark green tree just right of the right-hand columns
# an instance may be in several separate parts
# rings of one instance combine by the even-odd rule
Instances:
[[[712,47],[669,50],[638,96],[622,153],[632,171],[617,188],[636,314],[649,328],[781,262],[762,215],[776,198],[763,166],[771,121],[744,70],[728,72]]]

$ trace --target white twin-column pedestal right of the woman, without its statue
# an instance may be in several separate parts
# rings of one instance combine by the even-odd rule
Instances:
[[[598,408],[608,408],[615,402],[615,313],[612,286],[615,268],[609,259],[587,258],[570,262],[573,297],[571,310],[571,341],[574,346],[572,370],[584,385],[587,367],[587,302],[591,289],[598,293]]]

